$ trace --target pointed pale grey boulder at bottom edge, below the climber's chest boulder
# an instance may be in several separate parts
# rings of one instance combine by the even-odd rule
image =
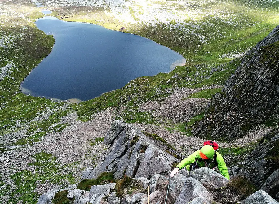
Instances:
[[[211,204],[213,199],[206,188],[196,179],[187,178],[175,204],[194,203]]]

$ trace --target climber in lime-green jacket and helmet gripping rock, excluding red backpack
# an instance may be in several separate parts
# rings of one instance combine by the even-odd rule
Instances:
[[[219,152],[214,151],[211,145],[205,145],[200,150],[197,150],[193,154],[184,158],[176,166],[176,168],[171,171],[170,177],[173,178],[173,176],[178,174],[178,171],[184,167],[186,167],[188,171],[192,171],[200,167],[208,167],[214,170],[217,167],[225,178],[228,180],[230,179],[228,168],[222,155],[219,154]]]

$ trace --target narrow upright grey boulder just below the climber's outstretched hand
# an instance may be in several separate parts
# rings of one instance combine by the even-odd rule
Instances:
[[[170,178],[169,194],[173,201],[176,201],[181,193],[187,178],[188,177],[183,176],[182,174],[175,174],[173,178]]]

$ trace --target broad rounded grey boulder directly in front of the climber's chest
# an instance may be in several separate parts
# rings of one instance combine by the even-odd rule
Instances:
[[[224,176],[207,167],[191,171],[190,176],[200,181],[208,190],[222,188],[229,182]]]

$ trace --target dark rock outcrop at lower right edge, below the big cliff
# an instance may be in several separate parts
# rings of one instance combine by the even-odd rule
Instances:
[[[279,193],[279,128],[267,133],[246,161],[231,167],[229,173],[233,177],[245,176],[259,189],[276,197]]]

